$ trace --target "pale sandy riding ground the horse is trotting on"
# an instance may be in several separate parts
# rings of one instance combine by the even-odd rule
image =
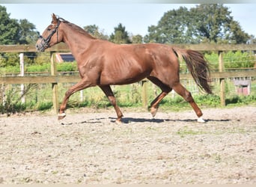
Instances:
[[[0,183],[256,183],[255,106],[103,111],[0,117]]]

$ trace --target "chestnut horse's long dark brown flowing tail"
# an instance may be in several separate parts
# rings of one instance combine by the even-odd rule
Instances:
[[[193,79],[201,90],[206,93],[212,93],[210,85],[208,84],[210,77],[210,70],[204,55],[191,49],[173,48],[174,53],[178,58],[182,57],[186,61],[186,66],[192,74]]]

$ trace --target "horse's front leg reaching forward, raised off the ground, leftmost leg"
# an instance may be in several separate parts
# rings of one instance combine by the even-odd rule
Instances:
[[[87,79],[82,79],[76,85],[73,85],[70,89],[68,89],[68,91],[65,93],[63,102],[61,103],[61,106],[60,106],[60,111],[58,113],[58,120],[61,120],[64,117],[66,117],[65,109],[67,108],[67,102],[70,96],[73,93],[76,93],[76,91],[82,91],[83,89],[89,88],[91,86],[94,86],[94,85],[91,84],[91,82],[88,82]]]

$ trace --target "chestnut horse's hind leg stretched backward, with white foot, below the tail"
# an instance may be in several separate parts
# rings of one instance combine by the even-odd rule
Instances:
[[[176,93],[178,93],[180,96],[182,96],[187,102],[189,102],[189,104],[192,106],[192,108],[195,111],[195,114],[197,114],[198,116],[198,122],[204,123],[204,120],[202,118],[202,111],[201,109],[198,107],[198,105],[195,103],[191,93],[189,91],[186,90],[186,88],[183,87],[183,85],[180,84],[180,82],[174,84],[172,86],[172,88],[174,89],[174,91]]]

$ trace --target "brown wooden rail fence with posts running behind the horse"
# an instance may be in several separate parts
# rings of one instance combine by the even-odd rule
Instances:
[[[256,77],[256,70],[225,72],[223,52],[225,51],[256,51],[256,44],[240,44],[240,45],[213,45],[213,44],[180,44],[174,45],[183,49],[194,49],[197,51],[215,51],[219,54],[219,72],[212,72],[211,79],[219,79],[221,104],[225,105],[225,79],[235,77]],[[51,83],[52,84],[52,101],[53,107],[58,112],[58,83],[63,82],[79,82],[79,76],[57,76],[56,63],[54,61],[55,52],[70,52],[66,44],[61,43],[46,49],[51,54],[51,76],[12,76],[0,77],[0,84],[29,84],[29,83]],[[0,52],[37,52],[33,45],[8,45],[0,46]],[[190,74],[180,74],[180,79],[192,79]],[[142,104],[147,106],[147,80],[142,81]]]

